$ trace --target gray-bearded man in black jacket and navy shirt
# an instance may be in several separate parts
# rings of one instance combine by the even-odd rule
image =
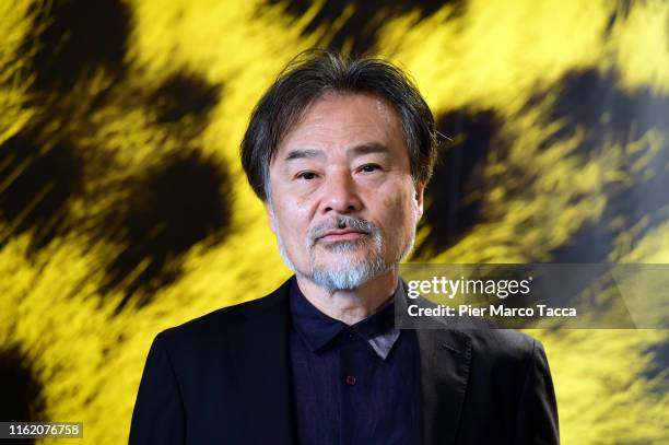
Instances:
[[[242,162],[295,276],[156,337],[132,444],[559,443],[539,342],[394,325],[435,133],[387,62],[315,50],[289,66]]]

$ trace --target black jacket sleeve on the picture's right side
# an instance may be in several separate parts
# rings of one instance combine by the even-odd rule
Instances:
[[[558,403],[543,346],[533,340],[516,424],[517,445],[560,444]]]

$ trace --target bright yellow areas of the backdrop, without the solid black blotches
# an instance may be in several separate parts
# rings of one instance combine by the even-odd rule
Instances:
[[[117,444],[127,441],[145,355],[159,331],[261,296],[290,276],[261,202],[246,184],[239,141],[256,101],[300,50],[327,46],[336,36],[344,50],[355,48],[355,30],[343,39],[341,30],[364,2],[344,3],[337,20],[319,21],[315,17],[326,2],[291,14],[282,3],[258,1],[127,1],[122,5],[131,13],[131,27],[124,75],[115,78],[102,63],[82,71],[68,89],[56,85],[50,91],[35,87],[39,79],[30,62],[35,48],[23,43],[39,33],[35,16],[54,3],[0,2],[0,143],[28,128],[43,137],[44,147],[67,134],[83,163],[83,185],[63,212],[51,215],[69,229],[39,248],[32,245],[37,229],[16,229],[21,214],[0,222],[0,349],[19,348],[22,366],[42,385],[39,420],[82,421],[82,443]],[[627,8],[626,2],[608,1],[470,0],[429,15],[421,15],[420,4],[397,12],[396,7],[373,3],[379,8],[371,15],[377,17],[371,20],[377,39],[368,49],[408,70],[437,116],[463,107],[494,109],[507,141],[504,155],[493,148],[477,171],[481,184],[494,185],[480,190],[484,218],[449,246],[425,250],[421,260],[551,261],[552,251],[590,225],[595,231],[614,229],[608,232],[614,234],[606,247],[608,261],[669,262],[667,199],[652,201],[647,211],[654,219],[625,208],[607,211],[612,187],[667,177],[667,120],[654,115],[649,129],[643,122],[643,131],[625,128],[621,142],[607,138],[611,127],[606,125],[603,130],[580,126],[550,139],[565,122],[544,118],[561,92],[553,86],[580,70],[605,78],[615,72],[611,87],[617,94],[657,101],[664,104],[660,110],[669,112],[669,3],[649,0]],[[466,7],[457,12],[457,3]],[[317,26],[305,32],[309,23]],[[177,72],[223,85],[208,119],[186,114],[178,122],[156,121],[145,92],[156,91]],[[541,91],[548,93],[530,101]],[[99,103],[90,107],[101,94]],[[606,106],[608,97],[601,101]],[[570,104],[578,113],[577,97]],[[611,109],[592,117],[594,122],[615,121],[620,113],[647,120],[643,101],[633,104],[641,108]],[[584,151],[592,131],[602,133]],[[542,145],[545,140],[550,142]],[[168,255],[163,271],[179,272],[165,285],[127,292],[132,273],[150,266],[148,258],[127,281],[105,286],[108,265],[130,247],[124,243],[124,227],[105,225],[106,220],[115,209],[133,206],[126,198],[134,178],[160,168],[186,147],[225,166],[225,236],[204,237]],[[25,168],[8,153],[0,152],[0,194],[10,192]],[[173,184],[175,189],[183,186]],[[44,187],[39,190],[48,195],[49,183]],[[638,206],[644,206],[643,197],[669,190],[641,194]],[[40,199],[39,192],[34,199]],[[99,227],[108,233],[101,235]],[[421,226],[419,242],[430,244],[436,230],[429,223]],[[142,298],[148,303],[139,304]],[[666,331],[530,333],[547,349],[565,444],[669,443]],[[0,397],[4,406],[14,402]]]

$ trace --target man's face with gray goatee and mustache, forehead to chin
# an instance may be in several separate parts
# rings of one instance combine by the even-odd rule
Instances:
[[[284,260],[329,291],[388,272],[423,213],[401,121],[373,95],[314,103],[278,147],[270,184],[267,211]]]

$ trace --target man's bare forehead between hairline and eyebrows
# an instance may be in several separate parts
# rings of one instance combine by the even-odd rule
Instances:
[[[320,149],[326,153],[377,143],[407,153],[401,120],[394,106],[371,94],[328,94],[305,109],[283,138],[277,157],[289,149]]]

